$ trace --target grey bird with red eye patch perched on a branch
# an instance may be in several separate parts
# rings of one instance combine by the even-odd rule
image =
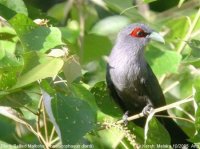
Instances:
[[[161,86],[147,63],[144,50],[151,40],[164,43],[164,38],[148,25],[133,23],[124,27],[117,35],[116,42],[107,62],[106,82],[110,95],[127,114],[138,114],[145,109],[166,105]],[[158,113],[169,116],[167,111]],[[185,144],[196,148],[187,139],[187,134],[170,118],[157,117],[171,137],[171,146]],[[144,127],[146,118],[134,122]]]

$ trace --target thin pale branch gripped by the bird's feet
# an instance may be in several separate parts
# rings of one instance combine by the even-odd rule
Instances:
[[[165,111],[165,110],[169,110],[169,109],[172,109],[172,108],[175,108],[181,104],[184,104],[184,103],[187,103],[187,102],[190,102],[190,101],[193,101],[194,98],[192,98],[192,95],[181,100],[181,101],[178,101],[178,102],[175,102],[175,103],[172,103],[172,104],[169,104],[169,105],[166,105],[166,106],[163,106],[163,107],[160,107],[160,108],[156,108],[153,110],[154,113],[158,113],[158,112],[161,112],[161,111]],[[139,114],[136,114],[136,115],[133,115],[133,116],[130,116],[127,118],[128,121],[132,121],[132,120],[135,120],[135,119],[138,119],[138,118],[141,118],[141,117],[144,117],[144,113],[141,112]],[[117,121],[117,124],[122,124],[124,123],[123,120],[119,120]]]

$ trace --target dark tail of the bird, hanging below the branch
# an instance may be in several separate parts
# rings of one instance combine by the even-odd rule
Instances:
[[[184,148],[197,149],[197,147],[188,141],[189,137],[186,133],[174,122],[168,118],[158,118],[158,120],[164,125],[171,137],[171,145],[174,149]]]

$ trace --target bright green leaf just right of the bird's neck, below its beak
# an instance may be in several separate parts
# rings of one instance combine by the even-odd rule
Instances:
[[[153,45],[150,45],[149,50],[146,51],[146,58],[157,76],[166,73],[177,73],[181,61],[181,55],[177,52],[160,50]]]

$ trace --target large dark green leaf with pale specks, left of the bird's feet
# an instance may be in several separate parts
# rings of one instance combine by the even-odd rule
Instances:
[[[58,94],[51,104],[61,132],[62,144],[75,144],[94,128],[96,113],[87,102]]]

